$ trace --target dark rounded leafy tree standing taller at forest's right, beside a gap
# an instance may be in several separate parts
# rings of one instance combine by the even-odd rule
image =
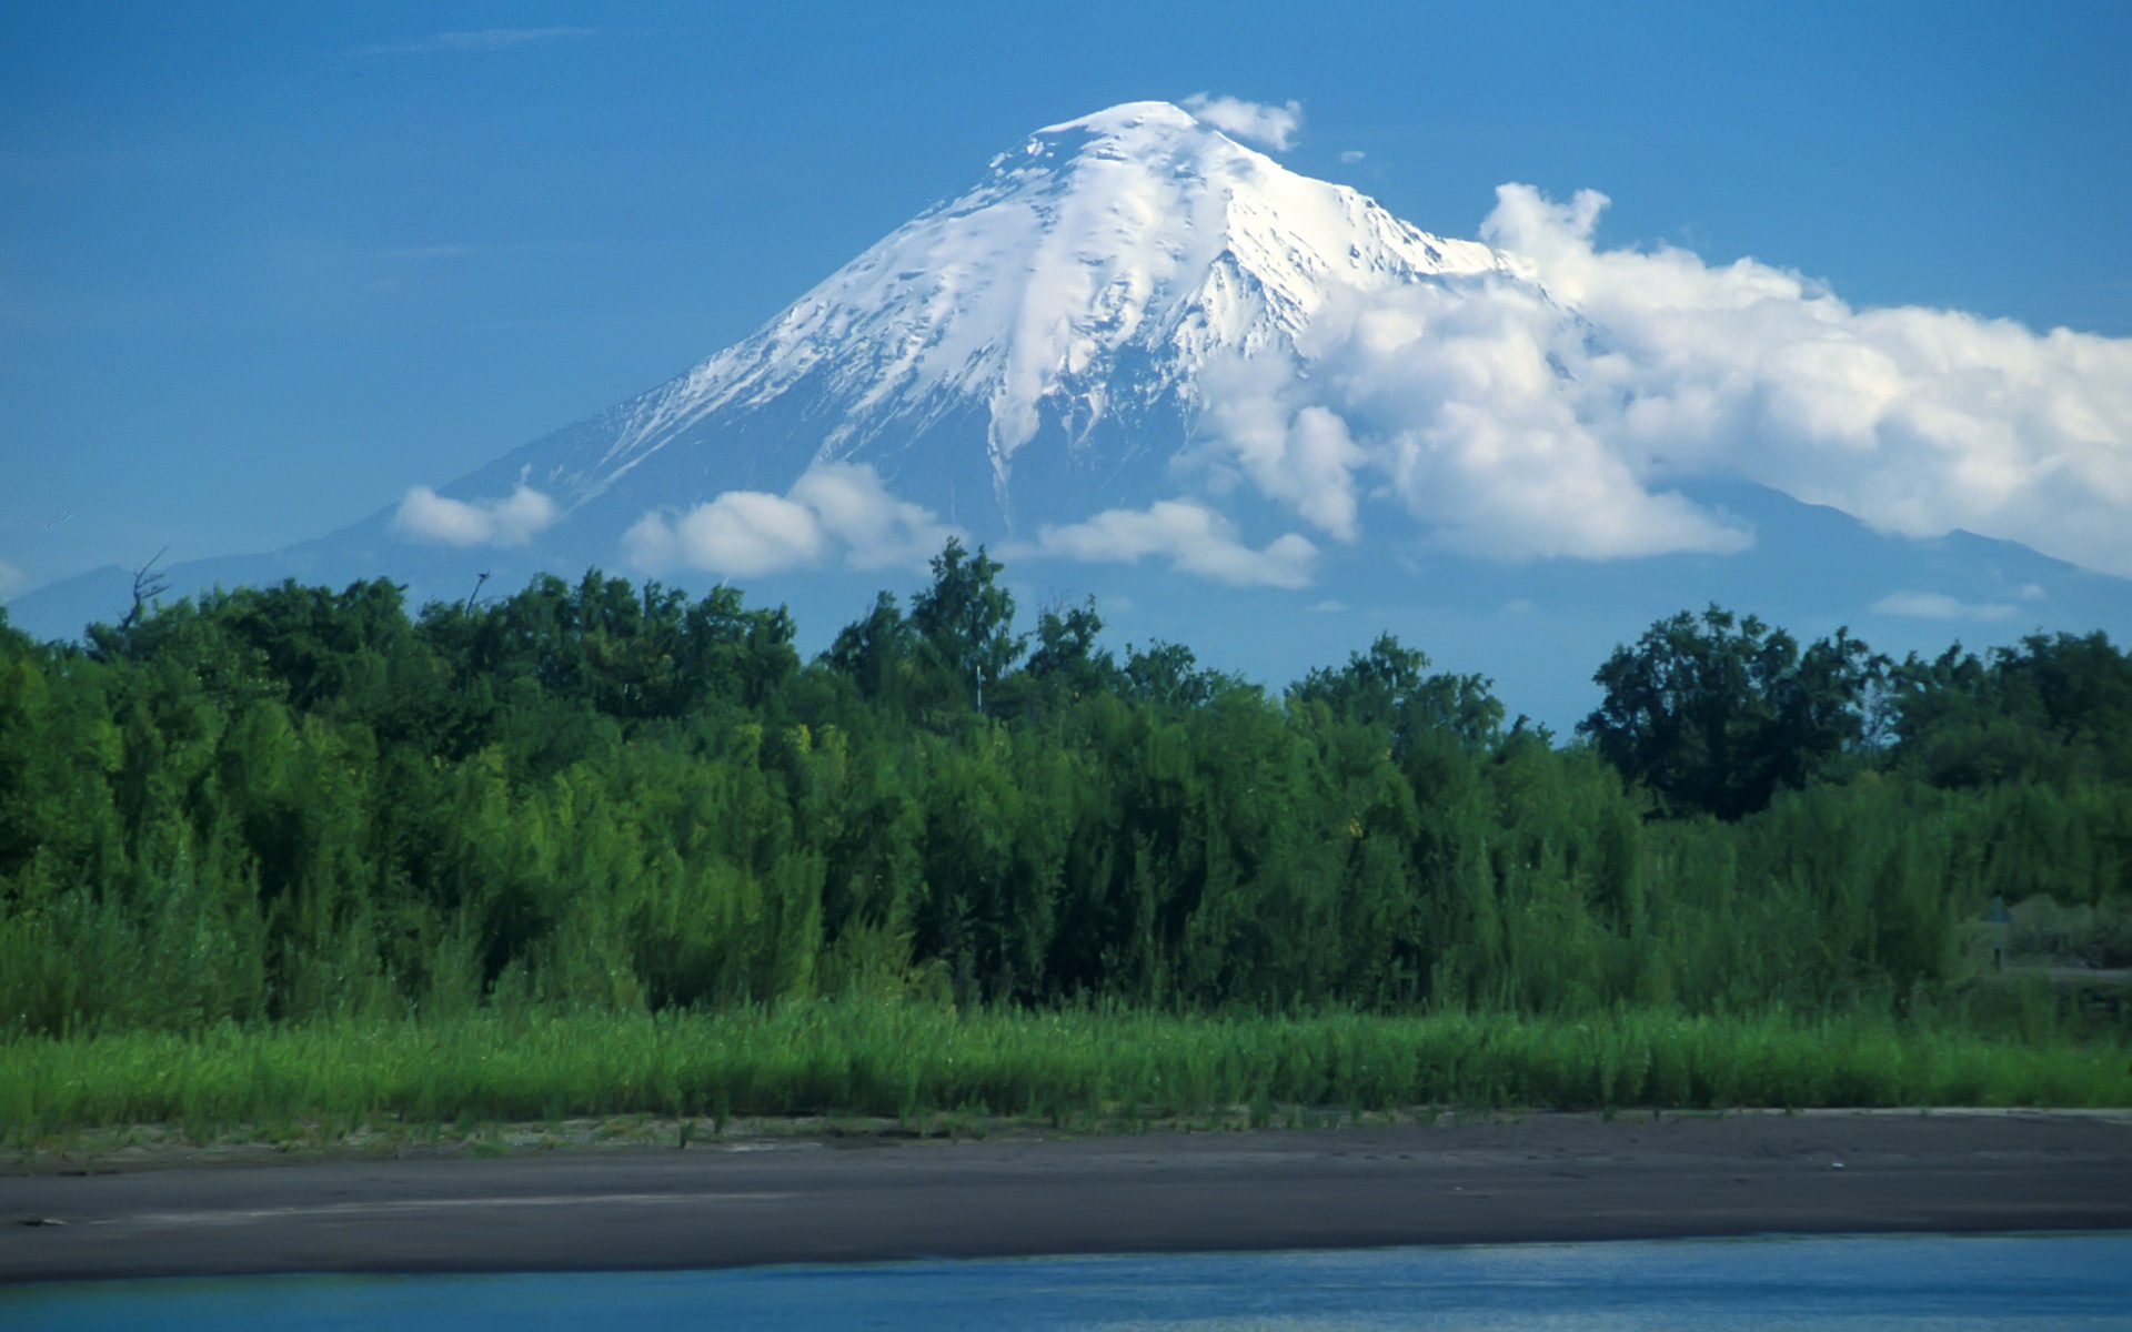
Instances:
[[[1669,812],[1740,818],[1840,765],[1883,669],[1842,629],[1802,652],[1755,616],[1680,612],[1599,667],[1605,699],[1578,733]]]

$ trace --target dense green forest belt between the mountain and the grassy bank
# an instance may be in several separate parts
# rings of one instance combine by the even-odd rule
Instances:
[[[2100,633],[1891,661],[1682,612],[1552,735],[1390,633],[1271,691],[1094,603],[1023,629],[1000,573],[951,541],[814,661],[599,571],[0,614],[0,1042],[806,1004],[2128,1040],[2008,978],[2132,963]]]

